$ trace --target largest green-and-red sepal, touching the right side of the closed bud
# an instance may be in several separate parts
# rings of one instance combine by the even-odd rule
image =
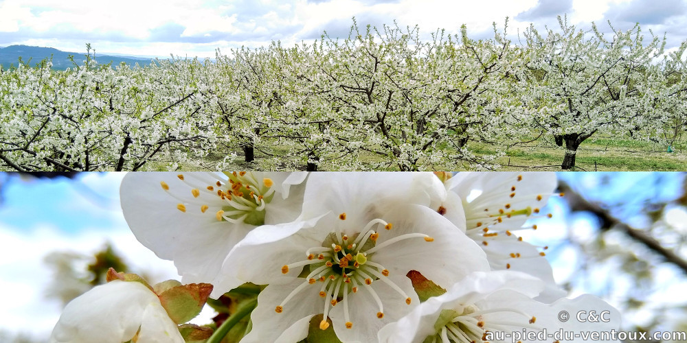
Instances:
[[[158,297],[170,318],[177,324],[183,324],[201,313],[210,292],[210,283],[190,283],[171,287]]]

